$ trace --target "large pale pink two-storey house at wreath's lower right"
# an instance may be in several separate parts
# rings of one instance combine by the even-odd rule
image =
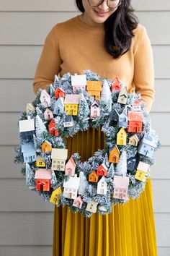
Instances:
[[[114,176],[114,198],[128,200],[129,177]]]

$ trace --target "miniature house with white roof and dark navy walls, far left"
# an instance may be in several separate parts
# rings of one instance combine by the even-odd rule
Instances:
[[[19,121],[19,132],[23,140],[31,140],[35,131],[35,119],[27,116],[26,120]]]

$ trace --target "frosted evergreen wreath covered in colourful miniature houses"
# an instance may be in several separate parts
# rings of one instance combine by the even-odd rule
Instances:
[[[102,129],[105,148],[84,162],[76,152],[68,159],[66,138],[89,127]],[[20,114],[19,139],[14,162],[24,163],[27,187],[87,217],[140,197],[160,146],[140,94],[90,70],[55,75],[40,89]]]

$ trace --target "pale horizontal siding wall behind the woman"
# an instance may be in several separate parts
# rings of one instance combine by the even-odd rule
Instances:
[[[0,256],[52,255],[53,205],[42,202],[25,187],[19,166],[15,166],[12,159],[14,145],[18,143],[19,112],[35,98],[32,79],[45,35],[55,23],[77,14],[73,3],[73,0],[1,1]],[[156,101],[151,117],[162,143],[151,170],[153,207],[158,256],[169,256],[170,1],[133,0],[133,4],[153,45]]]

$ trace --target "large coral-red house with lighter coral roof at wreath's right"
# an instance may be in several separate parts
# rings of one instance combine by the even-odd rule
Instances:
[[[143,113],[128,111],[128,132],[142,132]]]

